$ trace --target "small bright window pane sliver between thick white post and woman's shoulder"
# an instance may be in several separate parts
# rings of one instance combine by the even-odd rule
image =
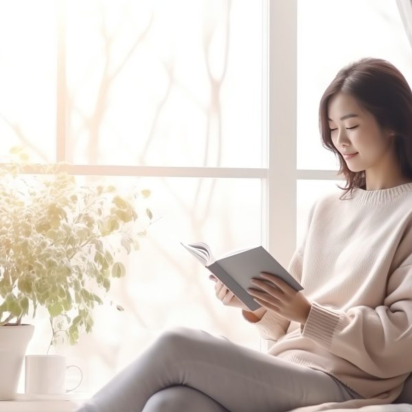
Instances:
[[[343,190],[336,185],[345,187],[345,181],[316,181],[316,180],[298,180],[297,181],[297,220],[296,220],[296,244],[297,247],[304,241],[306,231],[308,230],[308,216],[310,208],[315,201],[323,194],[336,192],[343,194]]]

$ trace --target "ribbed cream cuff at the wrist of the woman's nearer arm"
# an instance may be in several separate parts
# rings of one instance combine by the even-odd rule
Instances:
[[[340,320],[341,316],[338,313],[312,302],[308,319],[301,330],[302,336],[329,348]]]

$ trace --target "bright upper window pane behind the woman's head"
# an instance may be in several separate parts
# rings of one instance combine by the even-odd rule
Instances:
[[[344,65],[371,56],[393,63],[412,84],[411,45],[396,1],[298,0],[297,168],[338,170],[321,145],[321,95]]]

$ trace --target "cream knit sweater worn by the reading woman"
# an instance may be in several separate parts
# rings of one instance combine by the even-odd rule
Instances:
[[[312,301],[305,325],[270,311],[255,324],[274,342],[269,354],[367,399],[299,411],[391,403],[412,371],[412,183],[342,193],[314,203],[288,265]]]

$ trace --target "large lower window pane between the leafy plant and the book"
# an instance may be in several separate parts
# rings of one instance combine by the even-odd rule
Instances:
[[[107,179],[123,192],[150,189],[145,204],[154,217],[140,250],[129,255],[126,277],[113,280],[108,293],[124,312],[99,306],[93,332],[76,346],[59,348],[82,367],[80,390],[100,388],[174,326],[200,328],[260,350],[255,326],[244,321],[239,309],[218,301],[209,272],[180,244],[205,241],[216,255],[260,244],[260,180]],[[28,354],[45,352],[50,339],[46,314],[35,323]]]

